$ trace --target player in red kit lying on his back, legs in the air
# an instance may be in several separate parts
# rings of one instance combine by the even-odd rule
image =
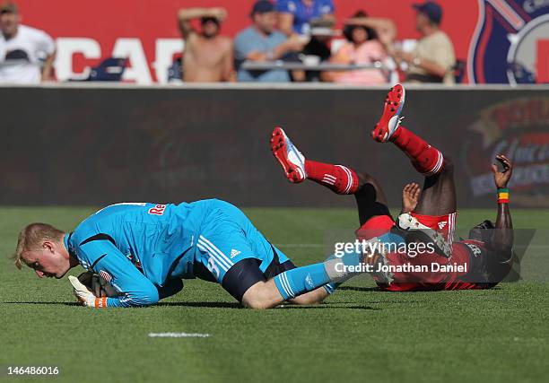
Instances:
[[[379,182],[366,173],[357,173],[343,165],[306,160],[283,129],[274,129],[271,149],[292,183],[310,179],[337,194],[355,197],[361,227],[358,239],[372,239],[396,227],[405,235],[414,231],[436,231],[446,241],[448,251],[409,250],[382,254],[392,267],[392,282],[376,281],[388,291],[466,290],[491,288],[501,282],[512,265],[513,231],[507,185],[512,174],[510,160],[496,156],[502,170],[492,165],[498,188],[498,214],[495,224],[484,221],[470,231],[470,239],[453,242],[456,223],[456,187],[453,163],[423,138],[400,126],[405,89],[396,84],[388,92],[383,114],[372,137],[379,143],[392,143],[405,152],[414,168],[423,174],[423,191],[416,184],[403,190],[403,210],[396,221],[388,210],[387,199]],[[404,231],[403,231],[404,229]],[[418,245],[423,239],[406,239]],[[375,278],[374,278],[375,279]]]

